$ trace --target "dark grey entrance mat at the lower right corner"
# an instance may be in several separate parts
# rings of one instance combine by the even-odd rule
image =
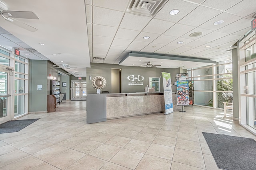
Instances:
[[[218,168],[256,170],[256,141],[244,137],[202,133]]]

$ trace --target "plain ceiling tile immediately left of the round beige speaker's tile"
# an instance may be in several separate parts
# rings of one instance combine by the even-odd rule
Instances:
[[[180,37],[182,35],[184,35],[185,33],[191,31],[192,29],[194,29],[196,27],[192,27],[192,26],[188,26],[188,25],[183,25],[183,24],[179,24],[176,23],[175,25],[173,25],[170,29],[168,29],[164,35],[170,35],[170,36],[174,36],[174,37]]]

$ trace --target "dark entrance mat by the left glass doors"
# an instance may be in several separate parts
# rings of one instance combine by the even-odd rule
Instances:
[[[25,119],[25,120],[13,120],[8,121],[0,125],[0,133],[12,133],[18,132],[24,127],[27,127],[31,123],[34,123],[38,119]]]

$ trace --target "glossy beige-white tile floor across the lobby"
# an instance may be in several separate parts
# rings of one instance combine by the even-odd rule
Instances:
[[[54,113],[16,133],[0,134],[1,170],[215,170],[201,132],[256,139],[218,109],[151,114],[86,124],[86,101],[62,102]]]

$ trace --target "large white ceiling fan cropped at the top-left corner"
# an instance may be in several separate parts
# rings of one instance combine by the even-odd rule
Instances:
[[[33,19],[33,20],[39,20],[38,16],[34,12],[29,11],[9,11],[6,4],[4,2],[0,1],[0,15],[6,20],[9,21],[19,27],[22,27],[28,31],[35,32],[37,31],[36,28],[27,25],[26,23],[23,23],[21,21],[18,21],[14,18],[24,18],[24,19]]]

